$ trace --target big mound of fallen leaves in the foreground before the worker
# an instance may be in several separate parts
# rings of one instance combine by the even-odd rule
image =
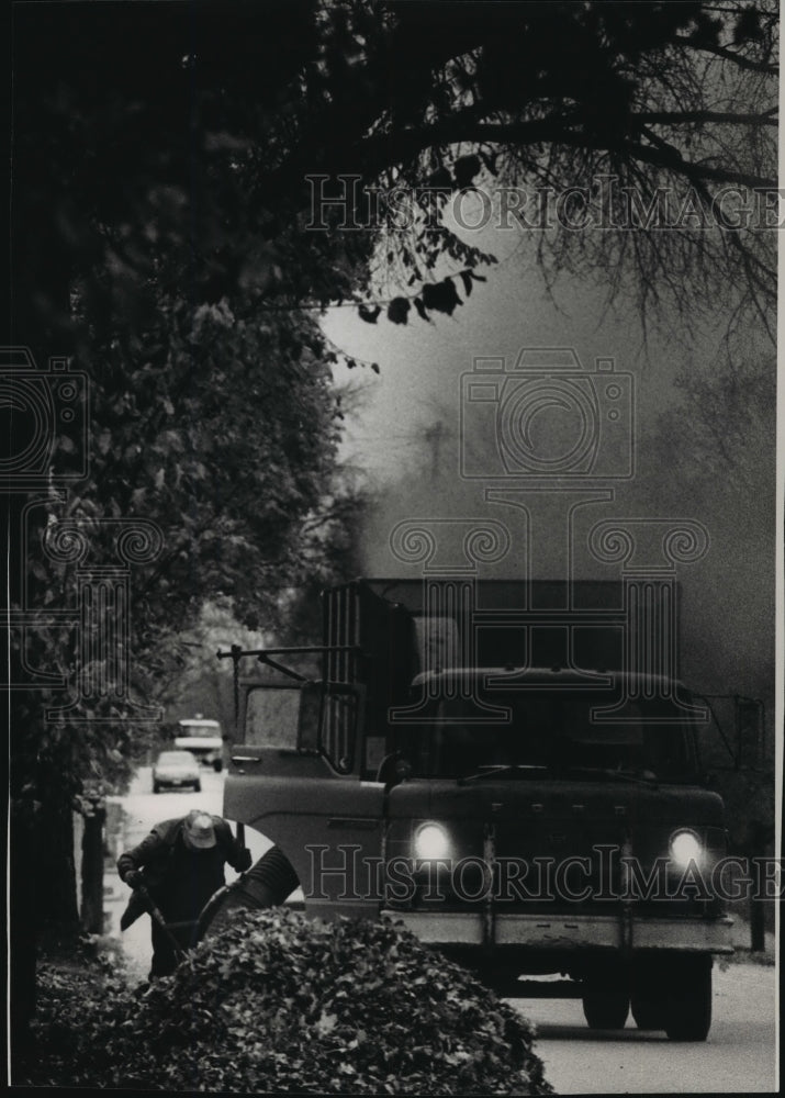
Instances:
[[[550,1094],[532,1031],[390,922],[238,911],[142,991],[40,990],[40,1067],[76,1086]]]

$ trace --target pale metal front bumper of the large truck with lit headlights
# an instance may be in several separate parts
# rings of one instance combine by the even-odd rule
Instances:
[[[473,911],[396,911],[383,916],[402,922],[429,945],[526,946],[536,950],[680,950],[732,953],[733,920],[653,919],[613,915],[496,915],[490,921]]]

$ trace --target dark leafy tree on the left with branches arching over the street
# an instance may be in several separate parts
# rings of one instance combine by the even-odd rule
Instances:
[[[547,276],[599,270],[613,292],[631,272],[644,307],[732,299],[733,324],[767,316],[774,234],[699,222],[722,188],[773,186],[772,0],[500,4],[492,18],[449,0],[77,2],[13,19],[9,337],[40,362],[74,356],[93,405],[89,475],[43,493],[12,597],[23,584],[29,607],[70,596],[75,563],[43,548],[53,522],[78,524],[94,563],[113,552],[106,519],[160,527],[160,556],[132,570],[143,697],[204,593],[254,626],[276,619],[284,583],[329,571],[346,501],[329,503],[336,352],[316,317],[347,301],[372,322],[382,304],[392,323],[452,313],[491,257],[450,227],[450,195],[580,187],[580,213],[605,201],[601,176],[617,177],[612,204],[633,193],[647,209],[670,188],[698,213],[666,233],[535,228]],[[332,194],[347,175],[356,199],[317,231],[313,177]],[[415,195],[405,229],[399,184]],[[54,475],[74,460],[58,438]],[[12,529],[21,504],[9,500]],[[19,643],[34,671],[68,680],[78,640],[40,620]],[[46,725],[58,704],[54,687],[14,695],[12,780],[19,818],[37,799],[47,837],[20,848],[19,873],[36,864],[40,899],[70,919],[70,798],[122,771],[131,737]]]

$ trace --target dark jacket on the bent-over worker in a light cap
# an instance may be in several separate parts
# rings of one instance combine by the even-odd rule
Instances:
[[[117,859],[122,879],[141,870],[144,886],[167,921],[195,920],[206,901],[226,883],[226,862],[242,872],[250,865],[250,851],[232,834],[226,820],[213,816],[215,845],[192,850],[183,838],[184,817],[157,824],[150,833]],[[120,926],[127,929],[147,910],[145,897],[134,889]]]

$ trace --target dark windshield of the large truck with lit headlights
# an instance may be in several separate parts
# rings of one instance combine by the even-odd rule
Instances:
[[[689,782],[697,776],[688,714],[674,720],[677,710],[671,708],[664,721],[662,706],[630,702],[623,722],[609,721],[597,710],[609,708],[613,701],[596,691],[494,690],[481,692],[480,697],[487,705],[505,707],[508,717],[503,721],[483,718],[467,698],[440,701],[434,722],[420,729],[413,752],[422,776],[547,773],[607,778],[618,773],[623,780],[664,782]]]

